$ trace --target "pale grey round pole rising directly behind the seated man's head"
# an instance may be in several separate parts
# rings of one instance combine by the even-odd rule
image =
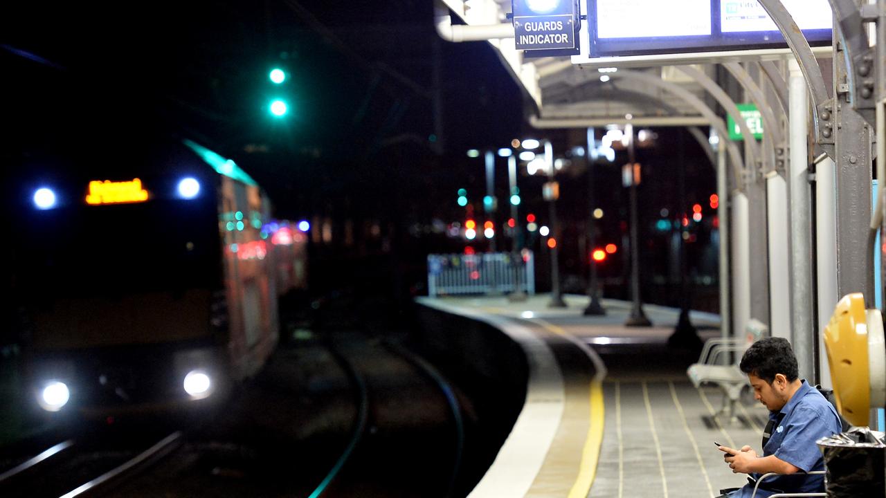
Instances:
[[[815,379],[812,353],[812,221],[808,178],[809,90],[797,61],[789,61],[790,165],[790,331],[800,377]]]

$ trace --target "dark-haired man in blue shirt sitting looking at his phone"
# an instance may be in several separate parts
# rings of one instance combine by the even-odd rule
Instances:
[[[722,496],[750,498],[756,479],[767,472],[796,474],[823,471],[815,441],[841,432],[840,417],[815,387],[798,378],[797,357],[787,339],[764,338],[751,345],[739,368],[748,375],[754,398],[769,409],[763,433],[763,455],[750,446],[719,447],[735,473],[749,474],[749,484],[724,490]],[[775,493],[822,493],[820,475],[777,476],[760,483],[757,497]]]

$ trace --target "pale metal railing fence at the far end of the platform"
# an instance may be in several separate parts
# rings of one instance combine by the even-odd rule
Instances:
[[[428,254],[428,295],[535,294],[535,256],[522,253]]]

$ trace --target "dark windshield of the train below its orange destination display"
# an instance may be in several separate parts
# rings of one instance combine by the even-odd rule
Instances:
[[[17,277],[38,300],[183,292],[220,281],[210,202],[66,206],[25,217]]]

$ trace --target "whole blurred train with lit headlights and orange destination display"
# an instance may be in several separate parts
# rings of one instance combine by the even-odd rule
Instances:
[[[218,406],[307,286],[307,235],[234,161],[169,138],[128,162],[34,164],[16,184],[22,378],[43,416]]]

